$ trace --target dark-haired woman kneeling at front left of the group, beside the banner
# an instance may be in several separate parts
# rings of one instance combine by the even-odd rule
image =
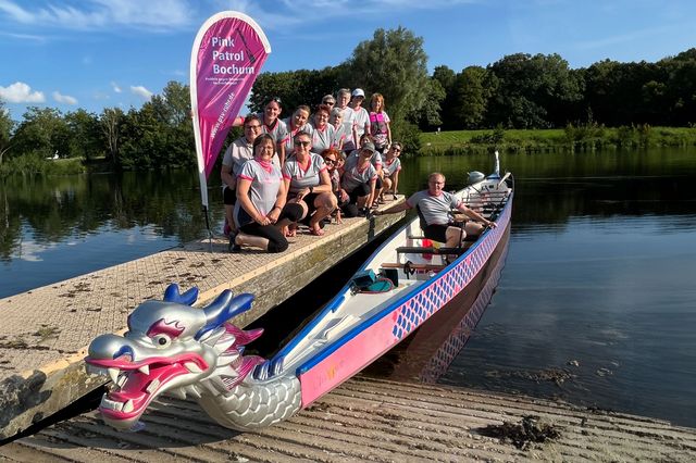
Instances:
[[[302,208],[286,204],[285,183],[273,164],[275,140],[268,134],[253,141],[253,159],[247,161],[237,177],[237,203],[234,218],[239,233],[229,238],[232,251],[252,246],[269,252],[283,252],[288,242],[283,227],[302,216]]]

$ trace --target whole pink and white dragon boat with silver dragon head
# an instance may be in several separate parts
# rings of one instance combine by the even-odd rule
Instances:
[[[197,288],[182,293],[170,285],[162,301],[135,309],[123,336],[102,335],[89,346],[88,368],[113,381],[99,405],[104,422],[137,430],[148,405],[166,393],[192,397],[232,429],[270,426],[356,375],[444,308],[471,304],[507,250],[513,179],[498,165],[496,153],[495,172],[470,173],[470,185],[456,193],[497,227],[461,247],[438,248],[421,236],[415,216],[270,359],[245,355],[262,329],[233,324],[251,308],[252,295],[225,290],[199,309],[192,306]],[[485,309],[480,305],[467,315],[472,329]]]

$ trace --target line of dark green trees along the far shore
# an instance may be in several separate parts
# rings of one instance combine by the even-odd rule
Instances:
[[[343,87],[384,95],[393,138],[410,152],[420,148],[421,132],[436,128],[693,126],[696,48],[655,63],[604,60],[576,70],[559,54],[515,53],[486,67],[437,66],[428,75],[421,37],[403,27],[377,29],[337,66],[261,74],[249,108],[261,111],[268,98],[279,97],[287,116]],[[30,166],[55,154],[105,158],[126,170],[189,167],[196,163],[189,113],[188,86],[177,82],[128,111],[63,114],[33,107],[15,123],[0,102],[0,170],[7,162]]]

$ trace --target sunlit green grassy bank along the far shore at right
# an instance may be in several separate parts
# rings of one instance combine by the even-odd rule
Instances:
[[[696,127],[599,125],[539,130],[455,130],[421,134],[419,155],[456,155],[489,151],[545,152],[696,146]]]

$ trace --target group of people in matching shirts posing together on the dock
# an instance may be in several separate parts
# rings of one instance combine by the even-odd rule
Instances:
[[[221,171],[231,250],[283,252],[298,223],[322,236],[334,211],[340,223],[366,215],[386,193],[396,197],[402,146],[391,140],[384,97],[372,95],[370,112],[364,100],[360,88],[341,89],[313,113],[300,105],[281,120],[273,98],[239,120],[244,135],[226,149]]]

